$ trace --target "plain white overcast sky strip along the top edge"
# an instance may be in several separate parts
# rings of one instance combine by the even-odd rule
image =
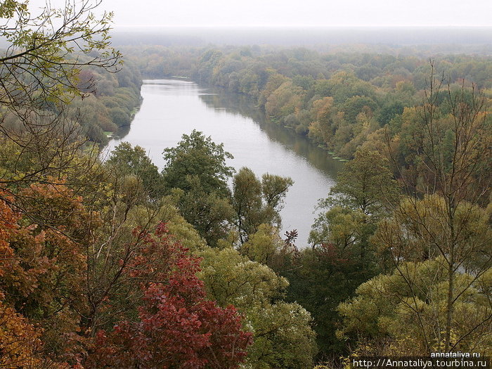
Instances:
[[[492,0],[102,0],[100,7],[114,11],[115,26],[492,26]]]

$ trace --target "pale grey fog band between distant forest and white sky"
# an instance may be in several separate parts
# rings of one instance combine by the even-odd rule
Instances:
[[[492,27],[115,27],[117,45],[207,44],[324,46],[372,44],[389,46],[448,46],[446,52],[490,54]],[[438,50],[439,50],[438,48]]]

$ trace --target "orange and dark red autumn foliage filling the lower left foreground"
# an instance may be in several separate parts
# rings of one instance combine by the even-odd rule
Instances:
[[[6,193],[0,200],[0,366],[235,368],[245,358],[252,337],[241,316],[207,300],[195,276],[200,259],[164,224],[134,230],[137,246],[115,276],[115,285],[135,290],[128,309],[115,325],[91,331],[86,279],[97,261],[89,245],[98,216],[63,183],[23,195],[28,216]],[[108,296],[101,310],[117,298]]]

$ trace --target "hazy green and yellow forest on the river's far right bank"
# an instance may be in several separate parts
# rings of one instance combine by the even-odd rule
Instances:
[[[271,122],[347,159],[360,145],[380,147],[385,131],[390,138],[404,134],[405,116],[410,114],[406,108],[422,103],[431,70],[429,58],[396,52],[318,53],[260,46],[138,46],[124,52],[145,77],[190,77],[251,96]],[[451,91],[475,84],[485,98],[492,97],[492,58],[454,55],[432,60],[435,75],[450,84]]]

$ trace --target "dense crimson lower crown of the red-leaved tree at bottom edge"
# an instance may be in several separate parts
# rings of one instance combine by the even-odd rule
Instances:
[[[112,334],[100,331],[87,367],[238,368],[251,334],[242,331],[233,306],[205,300],[193,283],[200,285],[171,277],[169,285],[148,287],[140,321],[120,322]]]

